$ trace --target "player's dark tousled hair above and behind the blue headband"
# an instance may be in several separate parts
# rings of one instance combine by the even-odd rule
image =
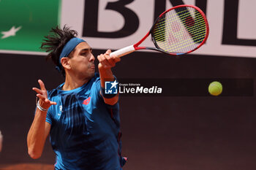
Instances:
[[[53,63],[55,63],[56,68],[59,67],[59,71],[65,77],[65,71],[61,64],[59,63],[59,56],[61,55],[61,51],[64,45],[69,42],[70,39],[78,36],[78,32],[75,30],[71,30],[66,25],[63,29],[56,26],[56,28],[51,28],[50,33],[48,36],[44,36],[44,42],[42,42],[41,49],[49,52],[46,56],[46,60],[51,59]],[[72,53],[69,54],[69,58],[72,58]]]

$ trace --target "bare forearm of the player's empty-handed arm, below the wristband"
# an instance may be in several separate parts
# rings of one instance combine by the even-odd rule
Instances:
[[[45,145],[46,112],[37,109],[27,136],[28,152],[31,158],[39,158]]]

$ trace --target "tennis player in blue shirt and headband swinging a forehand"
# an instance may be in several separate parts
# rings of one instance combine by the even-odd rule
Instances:
[[[41,48],[49,52],[65,82],[56,89],[33,88],[39,98],[33,123],[27,136],[31,158],[39,158],[50,134],[56,153],[55,169],[120,170],[121,132],[118,94],[105,94],[105,80],[114,82],[111,68],[120,58],[110,50],[98,55],[99,73],[95,73],[90,45],[76,37],[67,26],[52,28]]]

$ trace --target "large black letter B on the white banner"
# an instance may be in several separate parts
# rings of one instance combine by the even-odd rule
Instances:
[[[121,38],[129,36],[139,27],[138,16],[131,9],[124,7],[134,0],[119,0],[108,2],[105,9],[114,10],[124,17],[124,26],[118,31],[103,32],[98,31],[98,9],[99,0],[86,0],[83,19],[83,36],[101,38]]]

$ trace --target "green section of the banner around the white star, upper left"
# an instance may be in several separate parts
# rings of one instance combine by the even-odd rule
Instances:
[[[41,52],[43,36],[59,25],[60,3],[60,0],[1,0],[0,50]],[[12,26],[22,28],[16,36],[1,39],[1,31],[9,31]]]

